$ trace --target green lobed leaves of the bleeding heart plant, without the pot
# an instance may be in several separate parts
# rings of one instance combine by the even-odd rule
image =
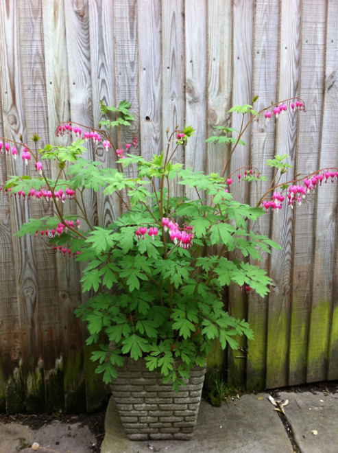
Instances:
[[[126,101],[117,107],[101,102],[104,119],[100,133],[104,139],[110,140],[111,128],[130,126],[134,120],[130,106]],[[234,106],[233,111],[256,115],[250,105]],[[207,141],[245,144],[241,131],[223,126],[216,129],[223,135]],[[104,382],[116,377],[123,356],[129,355],[134,360],[145,357],[147,367],[160,371],[164,382],[171,382],[177,390],[194,364],[204,364],[215,339],[223,349],[227,345],[235,349],[239,335],[253,338],[248,323],[225,311],[222,290],[234,283],[250,286],[265,297],[271,279],[247,258],[259,261],[262,253],[278,246],[248,230],[248,220],[254,222],[263,210],[233,200],[225,191],[223,176],[193,172],[171,161],[178,146],[184,146],[193,132],[191,126],[185,126],[171,135],[167,150],[149,161],[128,154],[117,161],[117,168],[86,159],[83,139],[67,147],[47,145],[39,156],[57,161],[56,178],[45,174],[37,178],[12,176],[4,186],[14,194],[32,188],[51,193],[67,188],[73,191],[70,202],[77,205],[82,222],[87,223],[86,231],[67,227],[66,220],[75,218],[63,216],[61,201],[54,196],[53,218],[29,220],[19,236],[56,229],[60,222],[64,226],[50,241],[53,246],[67,247],[84,263],[82,289],[95,295],[80,304],[75,314],[88,327],[87,344],[101,341],[92,360],[97,362],[97,373],[103,373]],[[119,148],[121,144],[112,149]],[[282,170],[287,167],[285,159],[286,155],[276,156],[267,163]],[[130,174],[134,177],[124,173],[128,165],[133,166]],[[193,189],[194,195],[171,195],[169,179],[173,178]],[[250,178],[248,181],[264,180],[263,176]],[[112,202],[120,200],[123,213],[110,225],[90,224],[84,204],[86,191],[103,191],[105,196],[115,197]],[[165,219],[171,222],[171,233]],[[151,229],[156,230],[153,237]],[[238,257],[233,261],[228,255],[232,251]]]

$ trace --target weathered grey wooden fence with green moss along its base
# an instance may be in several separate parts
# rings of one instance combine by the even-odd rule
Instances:
[[[240,127],[227,112],[259,95],[256,108],[300,96],[306,113],[259,117],[231,171],[291,156],[285,181],[338,166],[338,3],[335,0],[3,0],[0,2],[0,135],[56,139],[59,121],[93,126],[99,100],[132,102],[136,117],[123,142],[158,153],[167,127],[196,132],[180,159],[219,172],[224,146],[205,143],[215,126]],[[89,154],[110,165],[101,147]],[[22,173],[0,156],[0,185]],[[53,172],[53,170],[51,170]],[[34,172],[29,168],[29,172]],[[254,186],[252,186],[254,187]],[[338,379],[337,181],[302,207],[267,213],[254,231],[283,246],[263,266],[276,283],[269,297],[229,290],[229,310],[248,318],[254,341],[228,353],[228,382],[248,389]],[[264,185],[258,190],[263,191]],[[256,189],[233,183],[237,200]],[[89,199],[93,220],[117,207]],[[71,209],[64,206],[65,210]],[[0,410],[95,410],[106,397],[73,309],[79,270],[40,238],[13,237],[43,202],[0,196]],[[238,358],[240,357],[240,358]]]

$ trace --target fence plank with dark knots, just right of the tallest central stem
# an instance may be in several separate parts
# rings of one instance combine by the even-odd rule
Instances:
[[[184,19],[186,125],[195,129],[185,146],[184,163],[198,172],[206,165],[206,2],[186,0]],[[190,192],[195,197],[195,191]]]

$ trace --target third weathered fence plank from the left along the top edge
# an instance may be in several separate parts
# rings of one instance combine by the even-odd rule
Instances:
[[[43,1],[43,30],[45,36],[45,70],[47,87],[48,124],[51,145],[67,146],[71,137],[55,137],[61,121],[70,120],[68,67],[64,56],[67,55],[64,4],[58,0]],[[58,177],[58,165],[51,165],[53,178]],[[64,216],[75,215],[76,209],[71,202],[59,203]],[[73,259],[64,259],[62,253],[56,256],[58,272],[58,303],[60,304],[60,358],[56,360],[53,371],[49,373],[50,386],[54,389],[53,398],[47,397],[48,410],[64,407],[64,391],[68,395],[71,387],[71,364],[81,338],[78,323],[75,323],[73,308],[79,303],[80,274]],[[75,325],[74,325],[75,324]],[[80,337],[77,339],[77,335]],[[70,359],[69,359],[70,357]],[[78,364],[78,362],[77,362]],[[75,366],[75,364],[74,364]],[[72,368],[72,367],[71,367]],[[71,387],[71,391],[74,388]]]

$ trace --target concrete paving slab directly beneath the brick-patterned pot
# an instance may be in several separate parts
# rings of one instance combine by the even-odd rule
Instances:
[[[268,396],[243,395],[220,408],[202,399],[190,441],[130,441],[110,398],[101,453],[292,453],[285,428]]]

